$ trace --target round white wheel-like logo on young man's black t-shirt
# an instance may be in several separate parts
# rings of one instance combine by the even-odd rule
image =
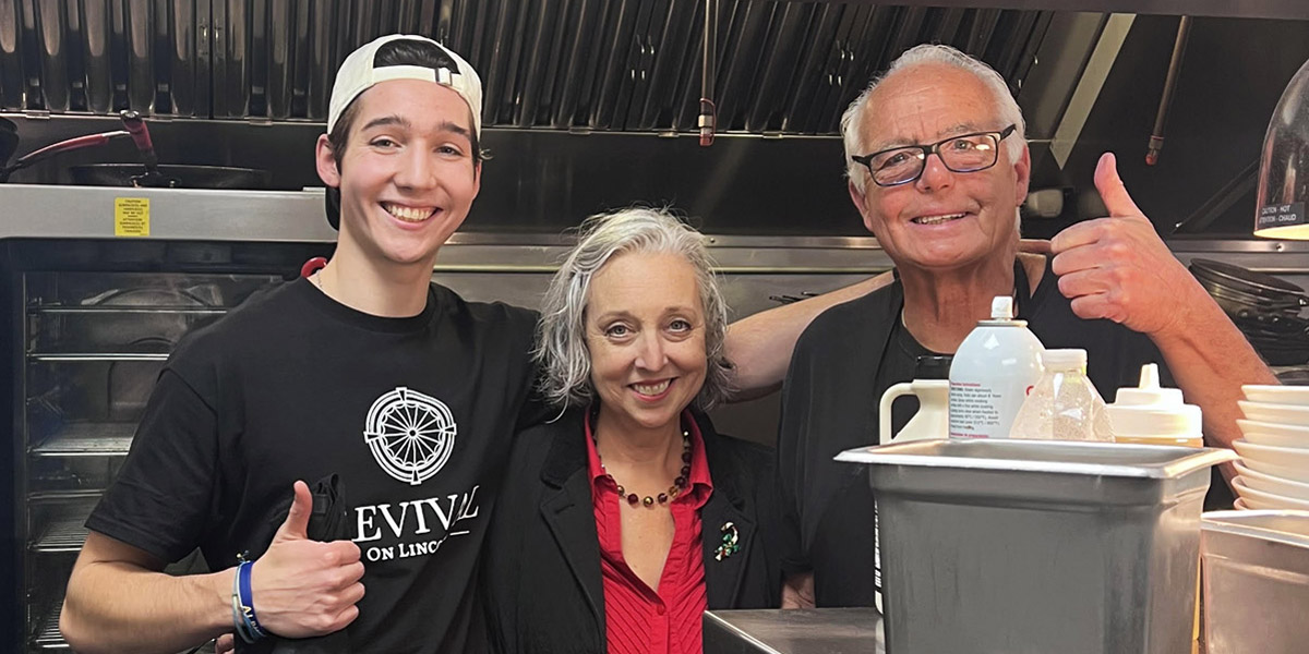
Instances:
[[[445,403],[399,386],[368,409],[364,442],[387,475],[416,487],[445,466],[457,430]]]

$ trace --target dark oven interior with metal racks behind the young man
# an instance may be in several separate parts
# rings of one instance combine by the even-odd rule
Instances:
[[[236,246],[185,247],[228,252]],[[20,398],[14,515],[21,519],[14,540],[22,576],[16,590],[25,624],[21,644],[0,650],[29,654],[68,650],[59,632],[67,576],[86,542],[86,518],[126,460],[169,352],[187,331],[285,276],[270,272],[268,263],[186,272],[85,262],[62,269],[43,255],[41,268],[10,279]],[[295,271],[300,263],[279,266]],[[194,559],[169,570],[196,572]]]

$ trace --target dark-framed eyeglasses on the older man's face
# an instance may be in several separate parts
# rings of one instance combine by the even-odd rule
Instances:
[[[1009,126],[999,132],[977,132],[950,136],[932,145],[901,145],[872,154],[851,157],[868,166],[877,186],[907,184],[923,177],[927,157],[936,154],[941,164],[954,173],[977,173],[995,165],[1000,158],[1000,141],[1017,129]]]

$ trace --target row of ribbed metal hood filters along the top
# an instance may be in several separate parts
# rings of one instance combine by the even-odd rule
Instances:
[[[978,55],[1017,89],[1051,16],[716,4],[719,126],[754,135],[835,133],[869,76],[923,42]],[[391,31],[466,55],[488,127],[695,129],[696,0],[4,0],[0,109],[321,122],[342,58]]]

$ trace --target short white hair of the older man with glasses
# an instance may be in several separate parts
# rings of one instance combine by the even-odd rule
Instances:
[[[850,103],[850,109],[847,109],[840,116],[840,133],[846,141],[846,177],[853,182],[855,188],[860,192],[864,191],[864,184],[868,182],[868,167],[863,164],[856,164],[851,160],[851,157],[856,154],[868,154],[867,152],[863,152],[864,143],[860,137],[859,129],[864,123],[864,111],[868,109],[868,98],[873,94],[873,90],[890,76],[924,64],[944,64],[973,73],[978,81],[991,89],[991,94],[995,95],[996,109],[1000,114],[1000,122],[1003,123],[996,128],[1009,127],[1009,123],[1017,126],[1017,129],[1014,129],[1014,132],[1004,140],[1005,150],[1009,154],[1009,162],[1012,164],[1018,161],[1018,157],[1022,154],[1022,146],[1028,143],[1026,123],[1022,120],[1022,110],[1018,109],[1018,102],[1013,99],[1013,94],[1009,93],[1009,85],[1005,84],[1004,77],[1001,77],[1000,73],[995,72],[995,68],[991,68],[984,61],[974,59],[950,46],[924,43],[906,50],[903,55],[891,61],[891,65],[888,67],[882,75],[873,77],[873,80],[868,84],[868,88]]]

